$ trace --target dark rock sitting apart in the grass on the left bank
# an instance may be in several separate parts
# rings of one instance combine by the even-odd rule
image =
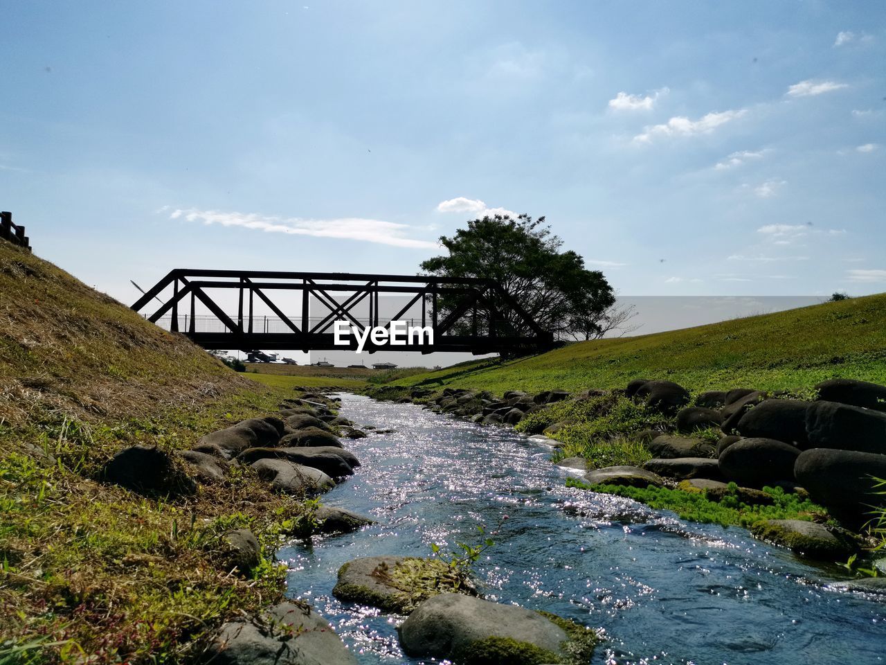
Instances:
[[[130,446],[105,464],[103,480],[146,495],[190,495],[197,483],[167,452],[156,447]]]

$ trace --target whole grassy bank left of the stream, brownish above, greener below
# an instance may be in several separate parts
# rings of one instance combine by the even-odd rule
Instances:
[[[3,241],[0,293],[0,662],[192,661],[201,636],[281,596],[271,552],[311,527],[310,505],[248,469],[179,499],[99,470],[135,443],[190,448],[291,390]],[[219,536],[241,527],[263,547],[247,578],[219,560]]]

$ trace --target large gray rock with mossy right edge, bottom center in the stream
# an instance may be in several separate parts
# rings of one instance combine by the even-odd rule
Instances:
[[[398,632],[407,655],[477,665],[589,662],[595,642],[571,653],[578,651],[570,648],[571,635],[546,616],[455,593],[425,600]]]

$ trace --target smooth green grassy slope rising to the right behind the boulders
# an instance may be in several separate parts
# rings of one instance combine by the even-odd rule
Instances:
[[[509,389],[625,387],[671,379],[692,391],[739,385],[803,390],[844,377],[886,383],[886,294],[617,340],[510,362],[479,361],[394,385]]]

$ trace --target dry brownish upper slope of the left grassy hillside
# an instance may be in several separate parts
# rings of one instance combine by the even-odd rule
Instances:
[[[0,421],[128,419],[251,387],[182,335],[0,242]]]

